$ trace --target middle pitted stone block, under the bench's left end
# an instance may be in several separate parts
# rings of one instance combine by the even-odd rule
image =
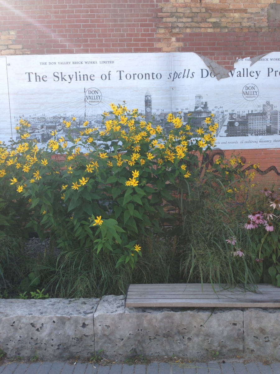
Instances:
[[[182,308],[181,308],[182,309]],[[125,308],[121,296],[103,297],[94,313],[96,349],[106,357],[132,354],[209,358],[242,355],[243,311],[184,310],[180,308]]]

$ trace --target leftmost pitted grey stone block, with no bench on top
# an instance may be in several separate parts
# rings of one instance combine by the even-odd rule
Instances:
[[[99,299],[0,299],[0,348],[7,357],[66,358],[94,350]]]

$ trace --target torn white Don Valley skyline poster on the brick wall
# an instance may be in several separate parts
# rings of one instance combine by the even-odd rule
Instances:
[[[234,64],[217,80],[196,53],[111,53],[0,57],[0,140],[16,139],[20,118],[47,142],[63,120],[88,120],[102,129],[109,104],[138,108],[146,120],[165,127],[168,113],[182,112],[203,127],[211,113],[218,122],[217,148],[280,147],[280,52],[255,64]]]

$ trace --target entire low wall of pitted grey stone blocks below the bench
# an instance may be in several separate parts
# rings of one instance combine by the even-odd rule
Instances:
[[[0,300],[0,348],[43,359],[175,355],[279,359],[279,309],[124,308],[122,296]]]

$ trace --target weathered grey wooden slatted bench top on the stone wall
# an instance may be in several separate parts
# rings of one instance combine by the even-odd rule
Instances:
[[[256,286],[256,292],[209,283],[131,284],[126,307],[245,307],[280,308],[280,287]]]

